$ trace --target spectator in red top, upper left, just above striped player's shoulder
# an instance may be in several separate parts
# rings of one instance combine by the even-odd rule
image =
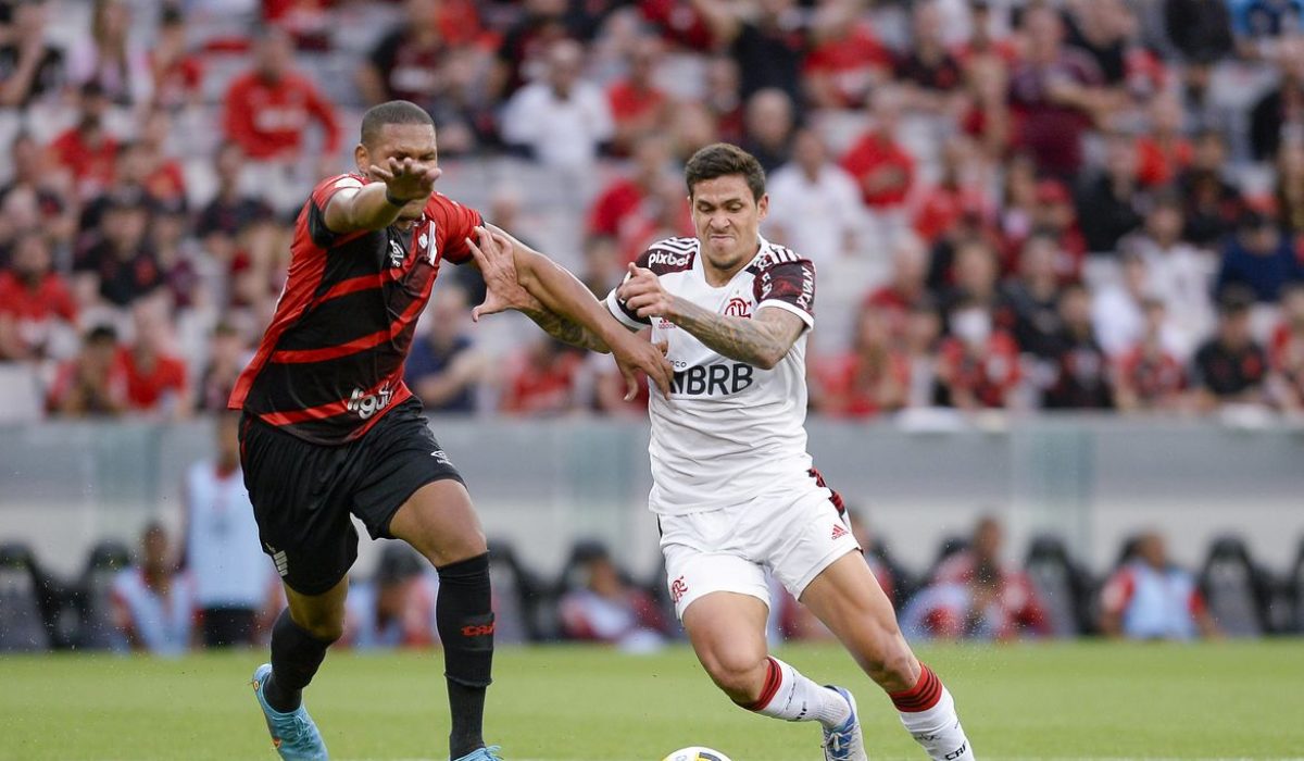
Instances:
[[[335,108],[317,91],[308,77],[295,72],[289,37],[265,29],[254,46],[254,68],[231,82],[226,95],[224,129],[245,155],[254,159],[287,162],[299,158],[309,121],[325,133],[322,163],[334,171],[339,149]],[[325,167],[322,167],[325,168]]]

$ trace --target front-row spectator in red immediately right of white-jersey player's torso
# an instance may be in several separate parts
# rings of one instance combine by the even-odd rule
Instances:
[[[852,351],[816,363],[814,406],[835,418],[871,418],[906,405],[910,365],[892,346],[891,317],[865,305]]]

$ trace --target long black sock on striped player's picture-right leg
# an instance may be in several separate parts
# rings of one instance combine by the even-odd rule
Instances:
[[[484,747],[485,689],[493,670],[493,599],[489,553],[437,569],[434,604],[443,642],[443,676],[449,680],[452,732],[449,753],[460,758]]]

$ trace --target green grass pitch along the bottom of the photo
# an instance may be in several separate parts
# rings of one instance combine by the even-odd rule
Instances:
[[[835,647],[781,657],[852,687],[875,761],[923,758]],[[927,649],[983,758],[1304,754],[1304,641]],[[0,758],[274,758],[248,677],[257,653],[159,660],[0,658]],[[732,707],[692,655],[501,651],[489,736],[507,761],[660,761],[703,744],[734,761],[818,760],[819,730]],[[331,654],[309,692],[333,758],[443,758],[437,654]]]

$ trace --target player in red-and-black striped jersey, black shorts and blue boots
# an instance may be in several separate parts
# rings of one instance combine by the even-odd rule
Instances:
[[[254,691],[282,757],[326,758],[301,691],[343,629],[353,514],[373,538],[403,539],[438,570],[450,753],[493,761],[481,736],[494,629],[485,538],[403,384],[441,265],[471,261],[471,238],[488,232],[479,213],[434,192],[434,124],[420,107],[393,101],[368,111],[355,159],[356,172],[319,183],[299,214],[286,290],[230,399],[244,410],[241,462],[259,539],[289,600]],[[639,369],[669,392],[661,352],[569,272],[528,249],[514,265],[548,325],[597,337],[591,347],[614,354],[631,394]]]

